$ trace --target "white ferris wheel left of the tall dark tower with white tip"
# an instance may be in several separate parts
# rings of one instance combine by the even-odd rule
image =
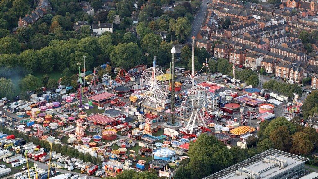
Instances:
[[[169,92],[167,79],[158,68],[147,68],[140,77],[140,86],[145,94],[143,100],[155,103],[156,107],[166,99]]]

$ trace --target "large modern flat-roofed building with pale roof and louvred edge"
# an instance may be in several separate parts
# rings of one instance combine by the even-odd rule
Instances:
[[[296,179],[304,175],[308,160],[272,148],[204,179]]]

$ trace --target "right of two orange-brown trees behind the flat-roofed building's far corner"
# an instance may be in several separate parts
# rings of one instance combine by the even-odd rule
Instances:
[[[314,150],[314,144],[305,132],[296,132],[292,135],[290,152],[296,155],[308,155]]]

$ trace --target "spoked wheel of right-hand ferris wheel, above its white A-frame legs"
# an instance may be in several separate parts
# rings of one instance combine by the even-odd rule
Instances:
[[[180,107],[180,117],[184,120],[190,120],[193,111],[199,111],[204,121],[210,117],[213,109],[213,96],[202,86],[194,86],[183,97]]]

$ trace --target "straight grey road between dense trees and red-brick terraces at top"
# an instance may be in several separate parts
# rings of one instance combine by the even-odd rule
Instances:
[[[197,12],[197,15],[196,17],[194,18],[193,20],[193,23],[192,23],[192,30],[191,30],[191,33],[190,33],[190,36],[188,37],[187,39],[187,42],[190,42],[192,41],[192,36],[197,36],[197,33],[200,31],[200,28],[201,28],[201,24],[202,24],[202,21],[204,19],[204,16],[205,16],[205,13],[206,13],[206,9],[208,7],[209,4],[206,4],[207,2],[210,2],[211,0],[203,0],[202,1],[202,4],[200,6],[200,9],[199,11]]]

